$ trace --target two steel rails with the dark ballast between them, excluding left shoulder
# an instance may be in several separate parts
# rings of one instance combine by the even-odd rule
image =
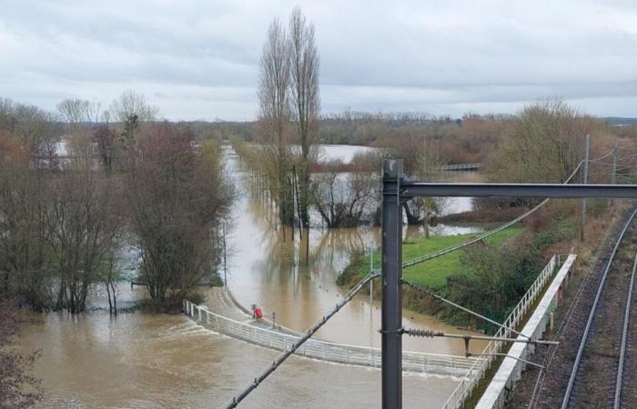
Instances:
[[[637,314],[632,311],[637,310],[637,301],[632,300],[636,294],[632,292],[637,263],[636,214],[637,210],[633,211],[623,225],[612,252],[602,254],[605,266],[566,384],[562,409],[619,409],[637,404],[637,387],[631,382],[632,374],[637,374],[632,349],[637,342],[637,328],[632,324]]]

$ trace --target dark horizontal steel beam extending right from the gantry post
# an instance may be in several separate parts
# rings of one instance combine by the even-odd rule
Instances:
[[[637,198],[637,185],[561,185],[561,184],[431,184],[402,182],[402,197],[416,196],[511,196],[555,198]]]

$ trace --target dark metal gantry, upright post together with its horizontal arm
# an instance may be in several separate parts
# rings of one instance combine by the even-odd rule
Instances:
[[[417,196],[637,198],[635,185],[432,184],[403,177],[401,159],[382,175],[382,407],[402,408],[402,204]]]

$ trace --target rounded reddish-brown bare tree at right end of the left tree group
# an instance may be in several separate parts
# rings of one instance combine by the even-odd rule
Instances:
[[[214,152],[194,142],[187,129],[162,124],[126,152],[136,157],[125,175],[125,196],[141,279],[161,304],[179,304],[213,271],[214,231],[234,196]]]

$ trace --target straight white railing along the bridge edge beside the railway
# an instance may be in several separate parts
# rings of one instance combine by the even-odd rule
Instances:
[[[553,255],[549,264],[546,264],[540,275],[538,275],[538,278],[536,278],[526,294],[522,296],[520,302],[515,306],[515,308],[513,308],[513,311],[511,311],[511,314],[509,314],[506,321],[502,323],[504,327],[515,328],[518,324],[520,324],[524,314],[529,311],[529,308],[531,308],[531,305],[537,296],[541,294],[544,285],[551,279],[557,264],[557,256]],[[511,331],[504,327],[501,327],[494,336],[498,338],[511,337]],[[490,341],[490,343],[484,347],[481,354],[489,356],[485,356],[483,359],[480,359],[473,364],[460,384],[458,384],[456,389],[454,389],[451,393],[447,402],[445,402],[442,406],[443,409],[457,409],[464,404],[464,401],[468,399],[471,392],[473,392],[473,388],[480,382],[480,379],[484,377],[484,374],[486,374],[493,363],[493,360],[496,358],[493,354],[500,353],[502,345],[503,343],[500,341]]]

